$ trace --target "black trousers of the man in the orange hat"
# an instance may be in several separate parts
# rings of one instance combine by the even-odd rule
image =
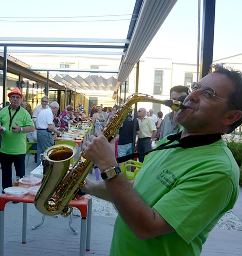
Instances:
[[[12,163],[16,169],[16,176],[20,178],[25,175],[25,155],[8,155],[0,153],[0,163],[2,167],[2,190],[8,187],[12,187]]]

